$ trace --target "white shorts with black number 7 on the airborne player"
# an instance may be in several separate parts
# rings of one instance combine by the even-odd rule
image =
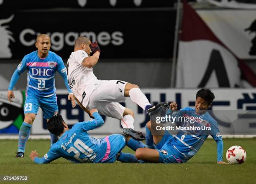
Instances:
[[[97,108],[102,115],[122,119],[125,107],[118,102],[125,102],[126,83],[118,80],[100,81],[89,98],[87,108]]]

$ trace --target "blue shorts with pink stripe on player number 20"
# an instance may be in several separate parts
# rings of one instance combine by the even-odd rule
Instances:
[[[113,163],[117,154],[125,147],[125,137],[121,134],[113,134],[105,137],[107,141],[107,151],[101,163]]]

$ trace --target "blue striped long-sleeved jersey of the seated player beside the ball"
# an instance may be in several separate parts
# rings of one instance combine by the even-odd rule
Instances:
[[[174,139],[169,142],[169,147],[173,149],[174,153],[183,161],[187,162],[189,159],[194,156],[197,151],[201,148],[202,144],[205,142],[205,139],[211,135],[212,138],[217,143],[217,161],[222,161],[223,159],[223,141],[218,128],[218,123],[215,121],[212,116],[206,112],[202,115],[198,115],[195,112],[195,108],[186,107],[179,111],[171,111],[170,109],[166,112],[166,115],[169,116],[190,116],[190,117],[201,117],[203,124],[205,126],[211,127],[210,131],[203,131],[195,133],[194,131],[179,131],[177,135],[174,136]],[[195,122],[194,124],[197,124]],[[201,124],[201,123],[200,123]],[[164,148],[162,148],[164,149]]]

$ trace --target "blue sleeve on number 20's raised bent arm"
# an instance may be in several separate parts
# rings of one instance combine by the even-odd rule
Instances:
[[[93,130],[103,125],[104,121],[99,113],[95,112],[92,114],[92,116],[94,119],[78,123],[84,131]]]

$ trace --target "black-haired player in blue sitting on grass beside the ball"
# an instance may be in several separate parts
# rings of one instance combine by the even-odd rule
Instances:
[[[210,135],[217,143],[217,163],[228,164],[222,161],[223,141],[218,129],[218,123],[210,116],[207,109],[212,106],[214,94],[209,89],[201,89],[196,94],[195,108],[186,107],[177,111],[177,103],[172,102],[166,115],[189,116],[202,118],[205,126],[211,127]],[[196,122],[198,123],[198,122]],[[168,131],[156,131],[154,124],[149,121],[146,124],[146,147],[136,150],[138,160],[160,163],[185,163],[200,149],[206,134],[195,134],[192,131],[179,131],[172,136]]]

